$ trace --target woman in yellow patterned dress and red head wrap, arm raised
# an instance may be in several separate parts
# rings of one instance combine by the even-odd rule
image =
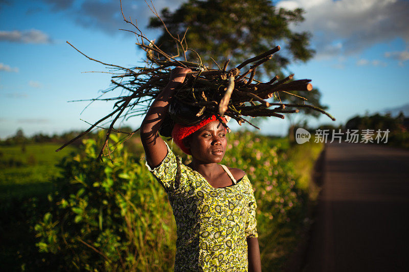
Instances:
[[[173,140],[192,155],[189,165],[159,135],[189,71],[172,70],[141,125],[146,165],[165,188],[175,216],[175,271],[261,271],[253,187],[244,171],[219,164],[227,144],[221,122],[213,115],[195,126],[174,126]]]

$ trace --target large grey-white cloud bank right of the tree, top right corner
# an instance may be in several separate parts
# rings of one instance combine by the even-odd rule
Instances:
[[[316,58],[356,55],[397,37],[409,44],[409,2],[404,0],[288,0],[278,7],[303,8],[305,21],[292,26],[314,34]],[[342,46],[336,46],[340,43]]]

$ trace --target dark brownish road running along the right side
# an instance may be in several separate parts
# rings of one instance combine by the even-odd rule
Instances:
[[[409,271],[409,151],[326,145],[303,271]]]

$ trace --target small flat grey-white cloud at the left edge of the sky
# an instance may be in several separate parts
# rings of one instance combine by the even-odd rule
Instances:
[[[0,41],[20,43],[52,43],[51,38],[44,32],[36,29],[0,31]]]

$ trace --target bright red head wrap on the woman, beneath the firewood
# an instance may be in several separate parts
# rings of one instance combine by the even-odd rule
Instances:
[[[220,117],[225,123],[230,120],[230,117],[225,116],[225,117]],[[208,123],[217,120],[217,117],[215,115],[212,115],[211,117],[202,120],[200,123],[194,126],[185,126],[185,125],[180,125],[179,123],[175,123],[175,126],[173,127],[172,130],[172,137],[177,146],[180,147],[180,149],[185,152],[186,154],[192,155],[190,153],[190,149],[185,146],[183,143],[183,139],[194,133],[195,131],[199,130],[200,128],[206,126]]]

